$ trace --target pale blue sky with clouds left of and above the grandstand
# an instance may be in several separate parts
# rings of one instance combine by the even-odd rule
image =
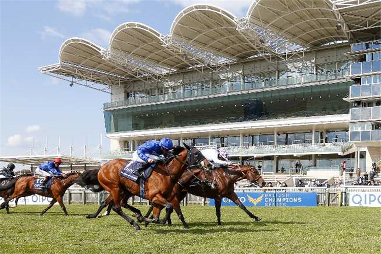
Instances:
[[[128,21],[168,34],[186,6],[209,3],[238,17],[252,1],[0,1],[0,155],[41,151],[48,138],[54,149],[95,147],[105,136],[102,104],[109,95],[42,75],[38,67],[58,61],[70,37],[107,48],[109,36]],[[109,148],[103,138],[105,149]]]

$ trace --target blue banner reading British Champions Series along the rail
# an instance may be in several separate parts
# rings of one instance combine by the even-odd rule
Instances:
[[[247,192],[236,194],[245,206],[317,206],[317,194],[315,192]],[[214,206],[214,199],[210,200],[210,205]],[[221,205],[235,206],[236,204],[228,198],[223,198]]]

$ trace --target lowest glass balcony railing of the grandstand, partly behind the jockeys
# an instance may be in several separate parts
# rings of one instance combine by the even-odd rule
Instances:
[[[316,143],[296,145],[260,145],[260,146],[228,146],[223,147],[230,156],[253,156],[264,154],[302,154],[302,153],[338,153],[341,154],[350,143]],[[210,147],[209,147],[210,148]],[[202,147],[199,147],[202,149]],[[126,150],[111,151],[103,154],[103,158],[132,158],[132,152]]]

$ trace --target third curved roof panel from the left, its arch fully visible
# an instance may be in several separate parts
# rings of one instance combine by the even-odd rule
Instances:
[[[219,7],[193,5],[182,10],[173,20],[173,39],[221,56],[241,59],[258,53],[255,42],[237,28],[237,18]]]

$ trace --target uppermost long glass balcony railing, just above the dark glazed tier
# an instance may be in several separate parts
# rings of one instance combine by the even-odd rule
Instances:
[[[276,80],[257,82],[257,83],[246,82],[244,84],[239,84],[239,85],[230,84],[227,87],[225,86],[213,87],[212,89],[210,89],[209,87],[208,88],[204,87],[202,89],[195,89],[192,91],[189,91],[189,90],[185,92],[178,91],[178,92],[158,94],[154,96],[146,96],[146,97],[140,97],[140,98],[128,98],[127,100],[116,101],[116,102],[107,102],[103,104],[103,109],[110,109],[115,107],[124,107],[124,106],[131,106],[131,105],[140,105],[140,104],[146,104],[146,103],[164,102],[164,101],[169,102],[169,101],[179,100],[179,99],[212,96],[216,94],[232,93],[232,92],[238,92],[238,91],[247,91],[247,90],[256,90],[256,89],[259,90],[259,89],[274,87],[274,86],[282,87],[287,85],[328,81],[328,80],[335,80],[338,78],[342,78],[345,75],[346,75],[345,70],[338,70],[336,73],[326,74],[326,75],[306,74],[300,77],[280,78],[278,79],[278,82]]]

